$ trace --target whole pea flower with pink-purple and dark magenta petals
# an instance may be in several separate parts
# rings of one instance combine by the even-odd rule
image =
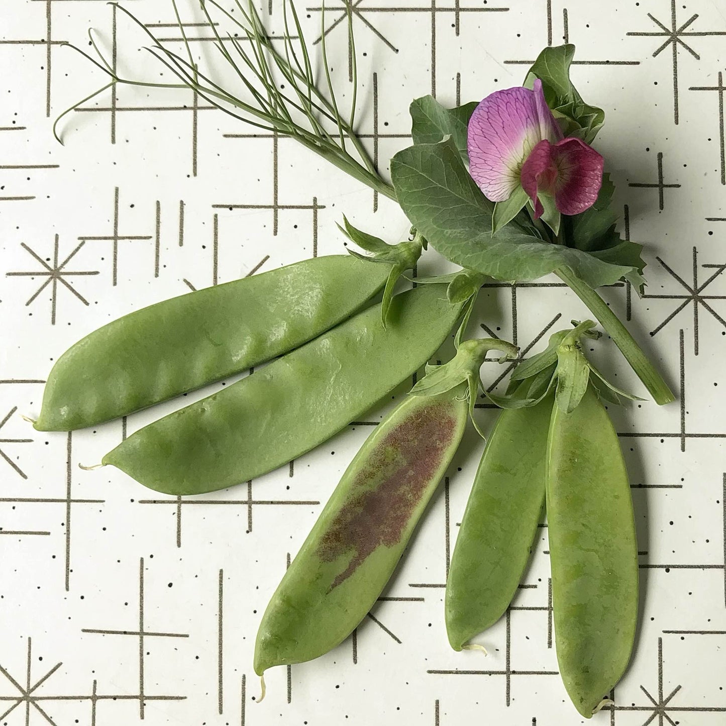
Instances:
[[[603,157],[581,139],[563,138],[539,78],[533,89],[487,96],[471,115],[467,146],[470,174],[484,196],[492,202],[512,197],[513,206],[521,202],[509,219],[527,197],[534,219],[552,201],[555,214],[584,212],[595,203],[603,181]]]

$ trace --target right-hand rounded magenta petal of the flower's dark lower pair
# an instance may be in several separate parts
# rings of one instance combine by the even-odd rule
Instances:
[[[563,139],[552,147],[557,167],[555,206],[563,214],[592,207],[603,183],[603,157],[580,139]]]

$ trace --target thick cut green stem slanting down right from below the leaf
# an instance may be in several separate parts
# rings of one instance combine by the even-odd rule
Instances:
[[[656,367],[648,360],[643,353],[643,349],[635,342],[635,338],[630,335],[625,327],[613,311],[608,308],[603,298],[598,295],[595,290],[587,285],[586,282],[580,280],[579,277],[569,268],[560,267],[555,270],[555,274],[566,282],[568,287],[587,305],[590,312],[597,318],[608,335],[613,339],[614,343],[620,348],[621,353],[629,362],[632,370],[637,377],[643,381],[645,388],[653,396],[656,404],[662,406],[669,404],[675,400],[675,397],[668,384],[656,370]]]

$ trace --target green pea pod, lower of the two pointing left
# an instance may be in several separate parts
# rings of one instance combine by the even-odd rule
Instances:
[[[444,287],[396,295],[253,375],[136,431],[103,457],[144,486],[201,494],[272,471],[327,441],[422,366],[461,305]]]

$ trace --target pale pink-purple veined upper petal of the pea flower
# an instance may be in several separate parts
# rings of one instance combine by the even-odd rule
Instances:
[[[539,78],[533,90],[494,91],[469,121],[470,174],[489,200],[502,202],[518,187],[522,165],[537,143],[561,138]]]

